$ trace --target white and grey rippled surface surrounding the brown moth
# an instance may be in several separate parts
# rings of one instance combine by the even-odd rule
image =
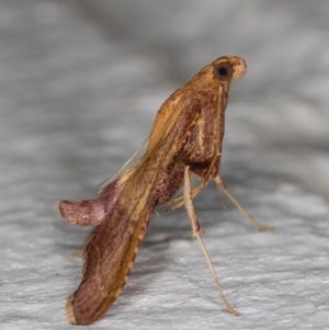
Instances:
[[[0,329],[71,329],[65,297],[89,198],[162,101],[214,58],[231,86],[222,175],[260,232],[209,185],[196,198],[219,299],[184,209],[154,217],[123,294],[91,329],[329,329],[329,3],[0,2]]]

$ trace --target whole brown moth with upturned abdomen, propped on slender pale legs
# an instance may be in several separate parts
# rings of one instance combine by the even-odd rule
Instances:
[[[224,114],[230,82],[247,70],[242,58],[224,56],[204,67],[160,107],[149,144],[141,159],[107,184],[95,200],[61,201],[60,214],[70,224],[97,225],[83,252],[80,286],[66,305],[68,322],[90,325],[101,318],[121,293],[132,270],[139,242],[156,207],[185,205],[193,236],[201,243],[219,294],[228,304],[200,237],[201,227],[193,197],[214,179],[217,186],[253,225],[270,228],[252,218],[225,187],[218,171],[224,136]],[[202,183],[191,189],[191,177]],[[179,189],[183,196],[171,200]]]

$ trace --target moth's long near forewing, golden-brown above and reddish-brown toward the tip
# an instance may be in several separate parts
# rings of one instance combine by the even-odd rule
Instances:
[[[184,104],[177,121],[170,124],[170,132],[164,129],[166,136],[157,137],[140,161],[120,178],[120,195],[92,235],[84,251],[83,278],[67,300],[70,323],[90,325],[98,320],[121,293],[157,206],[159,178],[186,144],[202,106],[198,100]]]

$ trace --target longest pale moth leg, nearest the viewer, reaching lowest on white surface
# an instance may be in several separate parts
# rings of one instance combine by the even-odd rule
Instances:
[[[203,240],[200,236],[201,228],[200,228],[197,216],[196,216],[196,213],[195,213],[195,209],[194,209],[192,197],[193,196],[192,196],[192,189],[191,189],[190,168],[185,167],[185,170],[184,170],[184,203],[185,203],[188,215],[189,215],[190,220],[191,220],[193,237],[196,237],[197,240],[198,240],[198,243],[200,243],[201,249],[202,249],[202,251],[205,255],[205,259],[208,263],[208,266],[211,269],[212,275],[214,277],[214,281],[215,281],[215,284],[217,286],[217,289],[218,289],[218,293],[219,293],[219,296],[220,296],[222,300],[224,301],[224,304],[225,304],[225,306],[226,306],[226,308],[228,309],[229,312],[231,312],[235,316],[238,316],[239,315],[238,311],[236,311],[230,306],[230,304],[227,301],[227,299],[225,298],[225,295],[223,293],[223,288],[219,284],[219,281],[218,281],[217,274],[215,272],[214,265],[212,263],[212,260],[209,258],[209,254],[208,254],[208,252],[205,248],[205,244],[203,243]]]

